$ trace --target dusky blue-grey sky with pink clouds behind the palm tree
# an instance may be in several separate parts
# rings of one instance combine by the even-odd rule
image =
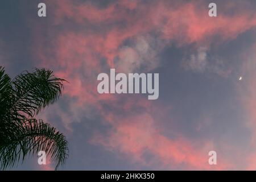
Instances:
[[[46,68],[68,81],[38,115],[67,137],[60,170],[254,170],[255,9],[255,0],[3,0],[0,65],[12,78]],[[97,76],[111,68],[159,73],[159,98],[99,94]],[[13,169],[54,166],[34,156]]]

